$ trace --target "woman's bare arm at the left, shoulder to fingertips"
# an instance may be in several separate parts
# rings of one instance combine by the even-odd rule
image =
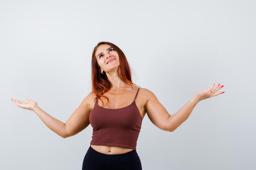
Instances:
[[[80,106],[74,111],[74,113],[72,113],[70,118],[66,121],[66,123],[55,119],[54,117],[46,113],[43,109],[41,109],[37,104],[34,104],[33,107],[30,106],[30,104],[36,103],[34,101],[29,101],[29,104],[26,104],[22,101],[15,99],[13,102],[21,108],[33,110],[49,129],[54,131],[59,136],[66,138],[76,135],[90,124],[89,115],[92,110],[90,107],[90,101],[92,101],[93,97],[93,93],[87,95],[83,99]]]

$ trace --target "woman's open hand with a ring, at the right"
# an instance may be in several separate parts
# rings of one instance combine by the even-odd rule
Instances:
[[[198,102],[199,102],[199,101],[201,101],[201,100],[203,100],[203,99],[208,99],[208,98],[210,98],[210,97],[220,95],[220,94],[222,94],[222,93],[225,93],[225,92],[223,92],[223,91],[217,92],[217,91],[218,91],[220,88],[222,88],[223,86],[224,86],[224,85],[220,85],[220,83],[219,83],[218,85],[216,84],[216,86],[214,86],[214,84],[213,84],[213,85],[211,85],[211,87],[209,87],[209,88],[207,88],[207,89],[205,89],[205,90],[203,90],[203,91],[200,91],[200,92],[198,92],[198,93],[195,93],[194,97],[195,97],[195,99],[197,99]]]

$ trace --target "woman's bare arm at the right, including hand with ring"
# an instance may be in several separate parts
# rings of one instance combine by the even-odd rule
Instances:
[[[203,99],[207,99],[216,95],[220,95],[224,92],[217,92],[223,86],[214,86],[214,84],[195,95],[187,102],[179,111],[175,114],[170,115],[167,110],[159,103],[155,95],[151,92],[148,95],[148,101],[146,104],[146,112],[150,121],[153,122],[157,127],[161,127],[162,130],[173,132],[179,127],[191,114],[196,104]]]

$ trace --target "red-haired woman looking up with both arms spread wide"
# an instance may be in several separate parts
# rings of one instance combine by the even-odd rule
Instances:
[[[44,124],[63,138],[93,127],[90,147],[83,159],[83,170],[141,170],[136,152],[142,120],[148,118],[158,128],[173,132],[203,99],[220,95],[220,84],[195,93],[177,113],[170,115],[157,97],[132,82],[123,51],[110,42],[99,42],[92,53],[92,92],[63,123],[47,114],[27,98],[12,101],[21,108],[33,110]]]

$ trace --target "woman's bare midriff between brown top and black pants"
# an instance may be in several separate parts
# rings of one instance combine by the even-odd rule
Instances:
[[[98,145],[91,145],[91,147],[96,150],[97,152],[106,154],[106,155],[116,155],[116,154],[123,154],[132,151],[131,148],[124,148],[119,146],[98,146]]]

